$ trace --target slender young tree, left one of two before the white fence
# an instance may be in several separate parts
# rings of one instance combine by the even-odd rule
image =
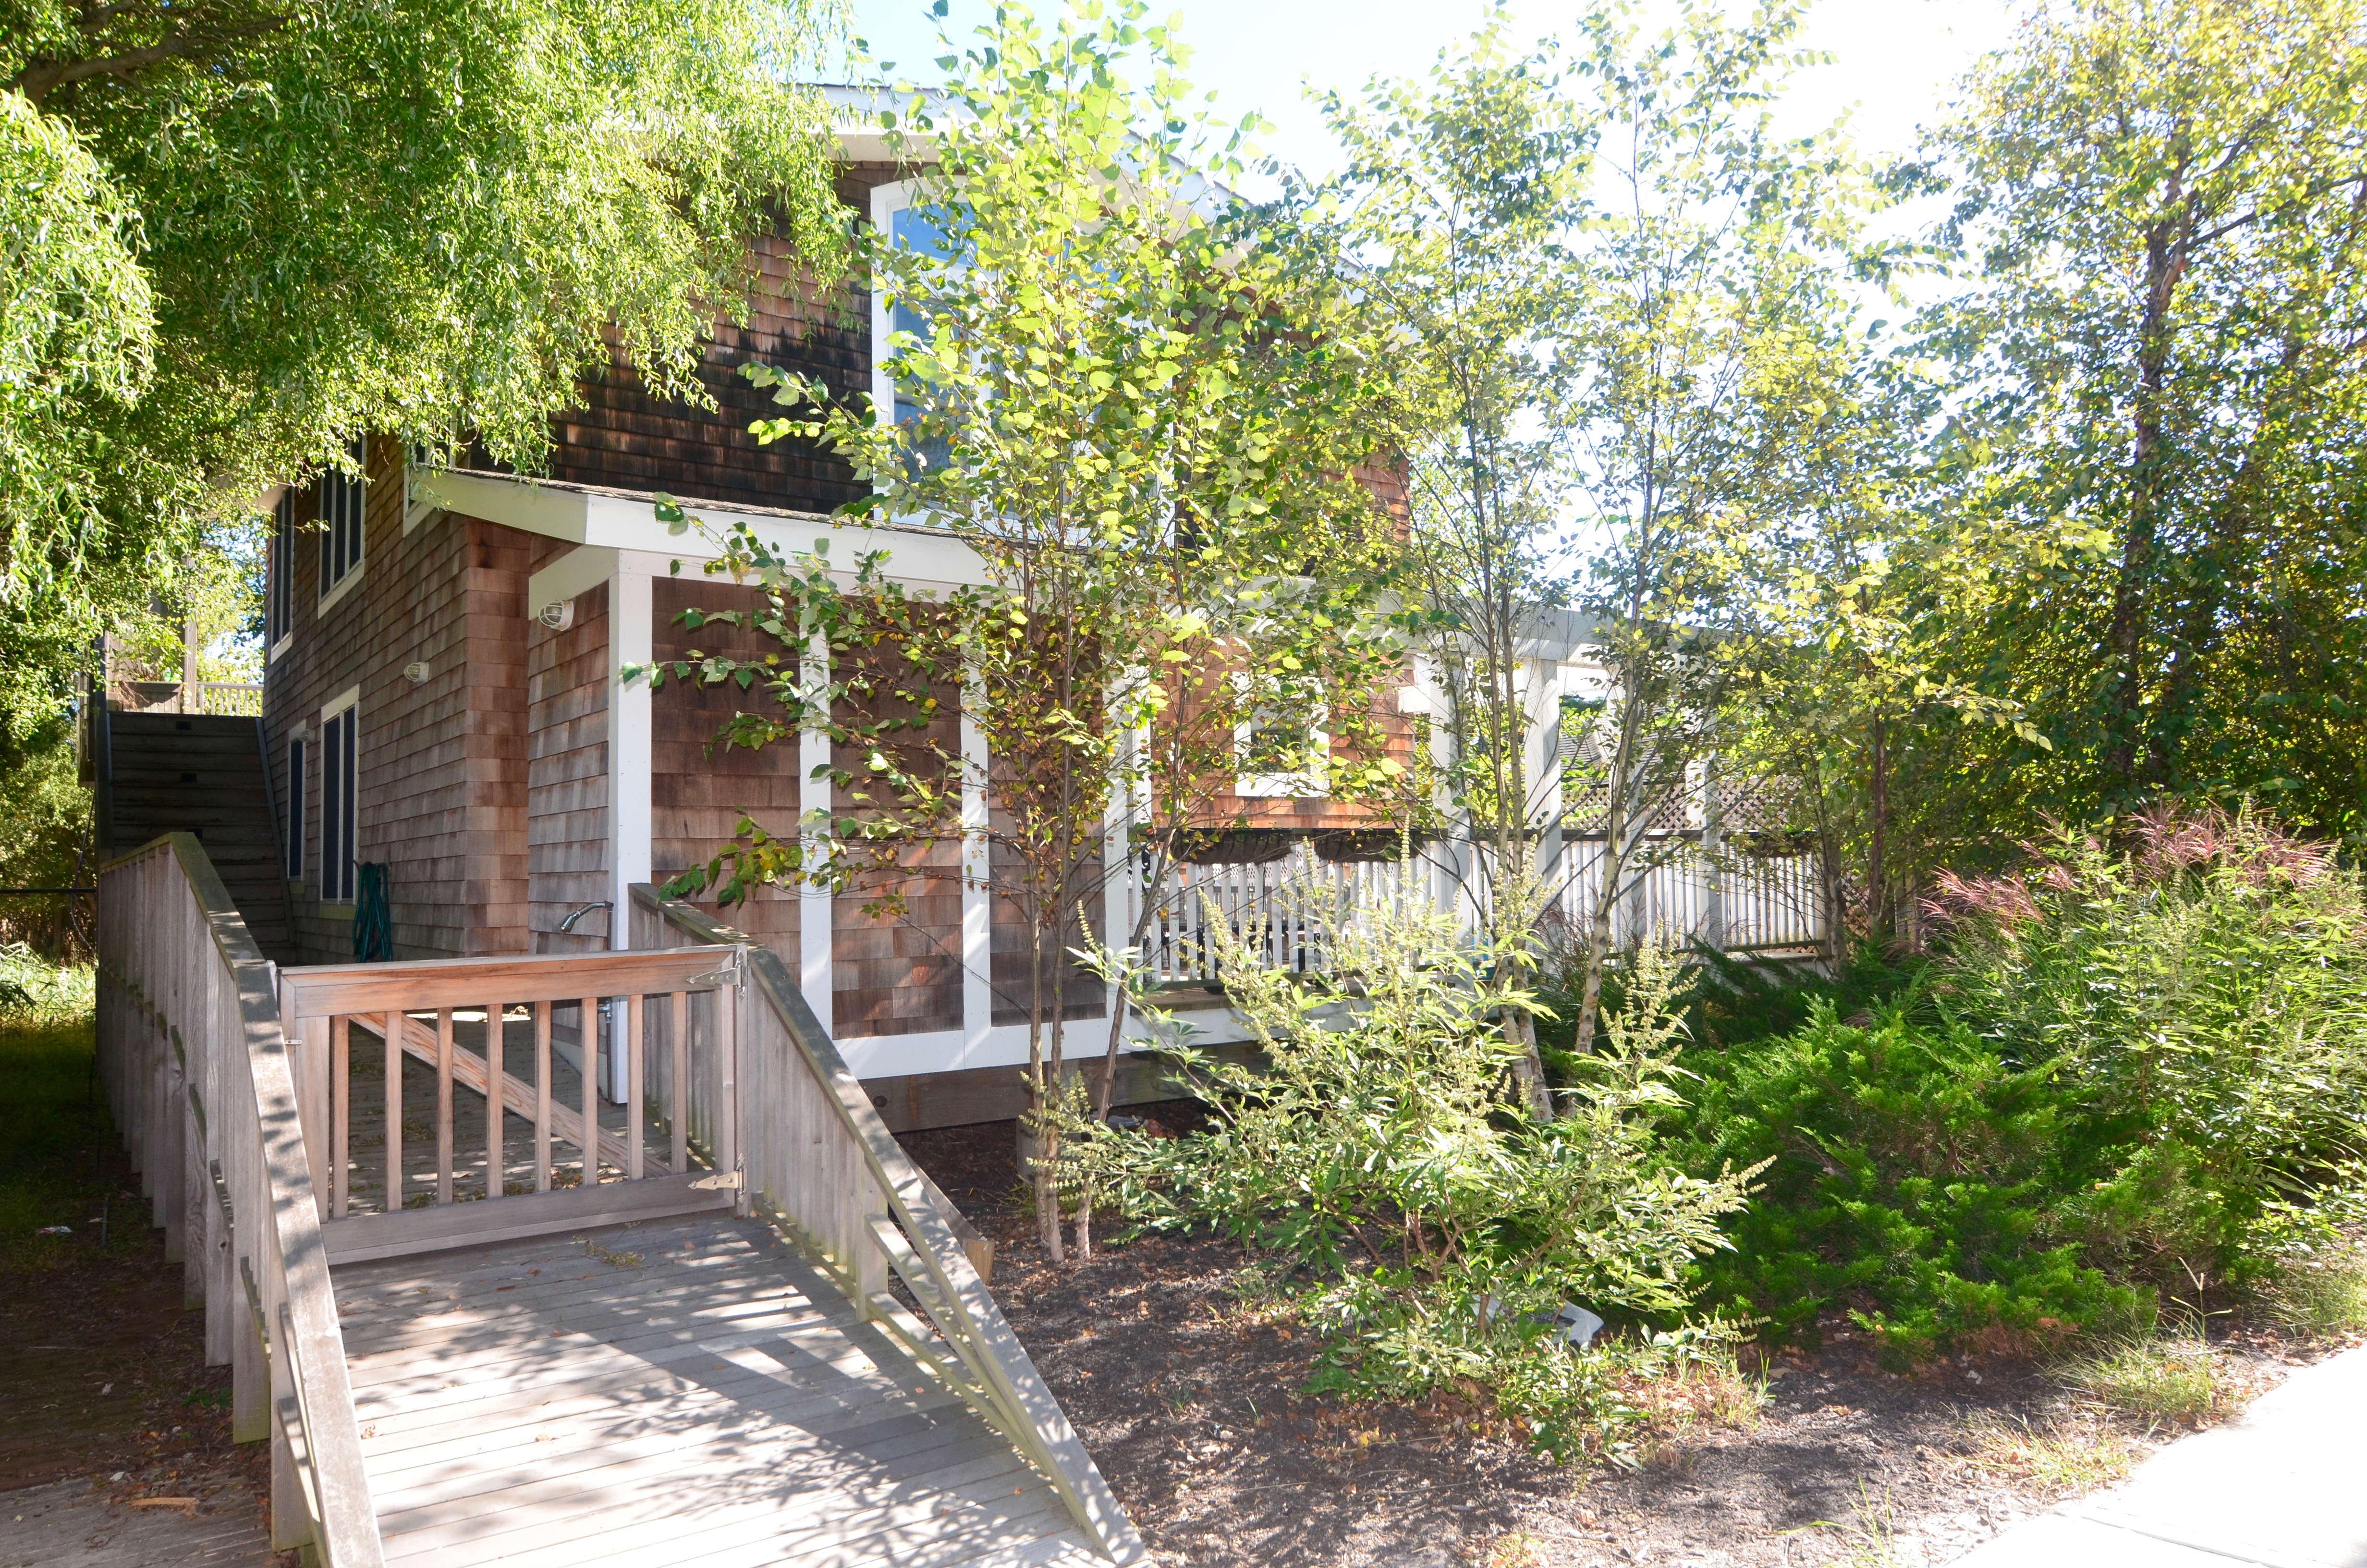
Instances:
[[[1342,249],[1370,258],[1363,329],[1394,367],[1389,441],[1406,464],[1401,580],[1423,611],[1420,651],[1449,751],[1446,808],[1465,895],[1498,976],[1534,971],[1536,848],[1560,817],[1553,767],[1529,737],[1555,711],[1553,670],[1529,647],[1565,604],[1553,573],[1572,469],[1550,415],[1562,377],[1567,223],[1591,128],[1555,92],[1550,54],[1510,59],[1501,17],[1427,83],[1330,95],[1347,171],[1326,197]],[[1529,1108],[1550,1116],[1536,1028],[1508,1007]]]

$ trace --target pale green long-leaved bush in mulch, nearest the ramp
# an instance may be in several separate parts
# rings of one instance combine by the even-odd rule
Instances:
[[[1221,917],[1210,921],[1224,943]],[[1681,1106],[1673,966],[1647,964],[1569,1113],[1534,1120],[1510,1092],[1503,1014],[1531,997],[1413,900],[1335,921],[1330,983],[1221,947],[1264,1061],[1179,1049],[1217,1111],[1181,1139],[1098,1135],[1091,1153],[1146,1227],[1207,1225],[1273,1255],[1328,1334],[1318,1386],[1418,1397],[1477,1383],[1550,1452],[1617,1445],[1619,1386],[1716,1357],[1726,1324],[1607,1336],[1574,1352],[1565,1303],[1681,1319],[1692,1262],[1749,1172],[1685,1175],[1657,1123]]]

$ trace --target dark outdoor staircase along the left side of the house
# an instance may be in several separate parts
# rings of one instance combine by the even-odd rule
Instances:
[[[286,848],[263,772],[260,720],[107,713],[97,805],[102,857],[159,834],[192,834],[263,957],[296,962]]]

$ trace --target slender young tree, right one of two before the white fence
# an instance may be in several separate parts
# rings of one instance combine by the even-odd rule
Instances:
[[[1602,855],[1579,992],[1593,1042],[1619,900],[1688,763],[1721,744],[1742,642],[1737,568],[1801,505],[1834,374],[1834,291],[1863,192],[1834,135],[1782,140],[1766,109],[1799,28],[1785,5],[1728,26],[1688,12],[1640,43],[1588,24],[1581,76],[1602,168],[1574,239],[1560,429],[1600,540],[1584,604],[1612,677]]]

